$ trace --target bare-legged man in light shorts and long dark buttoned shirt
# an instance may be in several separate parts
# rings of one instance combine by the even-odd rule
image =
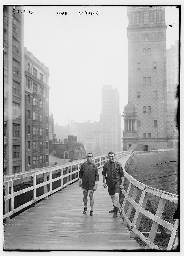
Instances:
[[[83,214],[87,212],[87,202],[88,202],[88,192],[90,198],[90,216],[93,216],[93,205],[94,205],[94,198],[93,194],[94,191],[97,189],[97,184],[99,181],[99,172],[98,167],[94,162],[92,162],[93,154],[88,153],[86,155],[87,162],[82,163],[80,171],[79,171],[79,187],[82,187],[83,191],[83,202],[84,202],[84,211]],[[81,184],[82,179],[82,184]]]

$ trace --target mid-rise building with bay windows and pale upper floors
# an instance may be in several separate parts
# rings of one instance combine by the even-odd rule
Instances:
[[[49,166],[49,70],[25,48],[26,170]]]

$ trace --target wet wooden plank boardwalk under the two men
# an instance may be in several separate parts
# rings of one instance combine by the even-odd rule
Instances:
[[[123,160],[123,157],[118,161]],[[108,189],[103,187],[102,168],[94,192],[94,215],[84,209],[78,182],[43,200],[4,225],[4,250],[141,250],[113,209]]]

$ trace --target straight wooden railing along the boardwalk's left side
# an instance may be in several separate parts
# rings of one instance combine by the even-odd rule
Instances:
[[[125,155],[130,155],[132,151],[123,151],[123,152],[118,152],[116,153],[116,159],[125,156]],[[5,214],[4,214],[4,219],[6,219],[6,222],[9,222],[9,217],[12,216],[13,214],[21,211],[22,209],[33,205],[36,201],[39,201],[41,199],[47,199],[48,196],[51,194],[68,187],[71,183],[75,182],[79,178],[79,170],[81,167],[81,164],[85,162],[86,159],[83,159],[82,161],[78,162],[71,162],[65,165],[58,165],[55,167],[47,167],[43,168],[41,170],[30,170],[28,172],[22,172],[18,174],[13,174],[13,175],[5,175],[4,176],[4,191],[5,191],[5,196],[4,196],[4,202],[5,202]],[[98,156],[93,158],[93,162],[96,163],[98,168],[101,168],[105,162],[108,161],[107,155],[103,156]],[[53,174],[57,173],[58,177],[53,177]],[[14,186],[17,184],[17,180],[21,180],[23,183],[24,180],[28,179],[30,177],[30,180],[33,180],[33,185],[31,187],[19,190],[17,192],[14,192]],[[43,177],[43,182],[40,184],[36,184],[36,180],[39,177]],[[57,188],[53,189],[53,183],[60,181],[60,186]],[[43,189],[43,194],[41,196],[36,195],[36,190],[41,188]],[[49,191],[48,191],[49,188]],[[11,193],[9,194],[9,190]],[[27,193],[29,191],[33,191],[33,198],[32,200],[26,202],[25,204],[14,208],[14,198],[16,196],[22,195],[24,193]],[[11,202],[9,202],[9,200]],[[9,207],[9,204],[11,205],[11,210]]]

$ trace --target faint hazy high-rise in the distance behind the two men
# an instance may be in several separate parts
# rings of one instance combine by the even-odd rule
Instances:
[[[106,85],[102,89],[102,152],[121,150],[121,115],[119,114],[119,93],[117,88]]]

